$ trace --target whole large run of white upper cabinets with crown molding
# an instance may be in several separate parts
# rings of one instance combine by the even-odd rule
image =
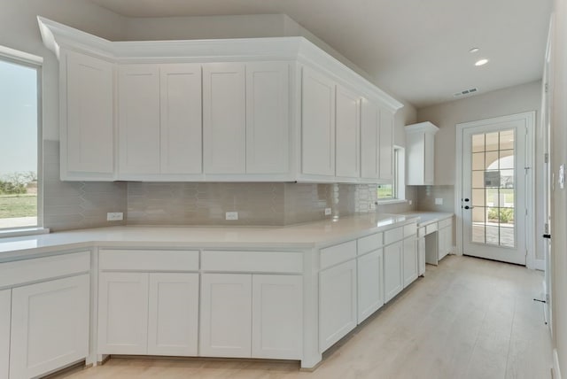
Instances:
[[[403,105],[305,38],[111,42],[38,22],[60,61],[63,180],[392,180]]]

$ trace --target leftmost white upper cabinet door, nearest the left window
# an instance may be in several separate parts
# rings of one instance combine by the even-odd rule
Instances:
[[[66,51],[61,78],[61,178],[112,180],[114,65]],[[66,91],[65,93],[63,91]]]

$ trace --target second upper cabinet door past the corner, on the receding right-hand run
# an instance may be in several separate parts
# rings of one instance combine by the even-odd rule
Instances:
[[[336,102],[336,175],[358,178],[361,174],[361,97],[337,86]]]

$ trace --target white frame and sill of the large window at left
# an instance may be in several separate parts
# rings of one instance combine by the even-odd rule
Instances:
[[[26,227],[0,228],[0,238],[49,233],[49,228],[43,228],[43,58],[0,45],[0,60],[35,69],[37,81],[37,223]]]

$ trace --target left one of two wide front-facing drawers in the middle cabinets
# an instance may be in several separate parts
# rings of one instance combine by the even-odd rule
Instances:
[[[198,271],[198,251],[101,250],[101,270]]]

